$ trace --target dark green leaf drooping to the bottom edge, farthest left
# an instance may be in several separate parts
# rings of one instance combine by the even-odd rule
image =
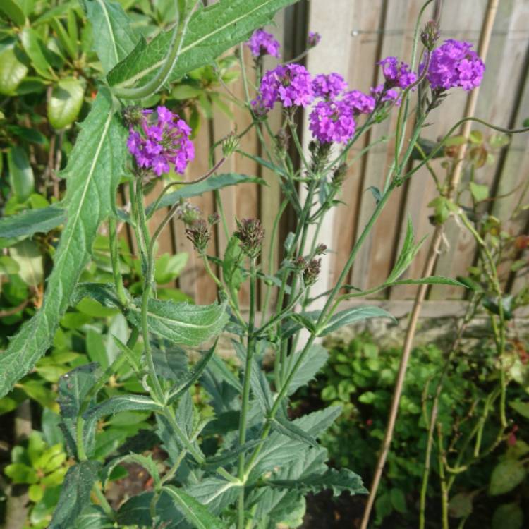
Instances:
[[[81,511],[90,503],[90,491],[100,467],[99,461],[80,461],[68,469],[49,529],[73,527]]]

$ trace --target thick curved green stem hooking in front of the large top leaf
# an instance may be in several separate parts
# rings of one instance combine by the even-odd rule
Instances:
[[[169,80],[169,75],[171,75],[171,72],[176,66],[176,61],[178,61],[178,56],[180,55],[180,51],[182,49],[183,37],[186,35],[188,23],[193,11],[194,8],[190,10],[186,16],[180,16],[178,23],[173,30],[173,35],[171,36],[169,51],[156,75],[154,75],[150,81],[145,83],[145,85],[137,88],[127,88],[116,85],[112,89],[112,92],[114,92],[116,97],[121,97],[122,99],[143,99],[155,94],[162,88],[162,86],[164,86],[167,80]]]

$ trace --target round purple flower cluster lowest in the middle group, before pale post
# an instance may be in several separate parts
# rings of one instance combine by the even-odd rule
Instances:
[[[321,143],[347,143],[355,133],[353,108],[345,101],[321,101],[312,110],[309,128]]]

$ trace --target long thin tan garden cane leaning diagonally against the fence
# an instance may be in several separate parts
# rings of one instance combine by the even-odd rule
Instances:
[[[487,51],[490,44],[490,37],[492,34],[492,26],[494,25],[494,19],[496,18],[497,8],[499,0],[489,0],[487,6],[487,13],[485,13],[485,18],[482,24],[482,31],[480,36],[480,44],[478,46],[478,55],[485,61],[487,56]],[[475,88],[473,92],[470,92],[470,95],[467,100],[466,109],[464,117],[472,117],[475,113],[476,102],[478,101],[479,88]],[[471,121],[465,121],[461,128],[461,135],[465,138],[470,136],[470,123]],[[463,164],[461,163],[466,154],[466,145],[467,142],[461,145],[461,148],[458,152],[458,164],[454,169],[454,173],[451,175],[449,182],[449,191],[448,198],[454,195],[459,180],[461,178],[461,169]],[[439,248],[443,240],[444,227],[442,224],[435,226],[434,235],[430,243],[430,248],[428,250],[428,255],[425,262],[425,267],[422,271],[422,277],[427,277],[432,275],[435,262],[437,260],[437,255],[439,253]],[[375,497],[377,496],[377,490],[379,487],[380,479],[382,478],[382,472],[384,471],[384,466],[386,464],[387,455],[391,447],[391,440],[393,439],[393,432],[395,428],[395,422],[397,414],[399,412],[399,403],[401,400],[401,394],[404,384],[404,378],[406,377],[406,370],[408,368],[408,360],[411,355],[411,348],[413,346],[413,339],[415,338],[415,331],[417,329],[417,322],[419,319],[420,311],[422,310],[422,303],[425,300],[427,285],[420,285],[417,294],[415,295],[415,301],[413,303],[413,309],[411,311],[410,321],[408,323],[408,329],[406,329],[406,339],[404,340],[404,347],[402,352],[401,363],[399,365],[399,372],[397,374],[397,379],[395,383],[395,389],[393,394],[393,399],[391,401],[391,408],[389,411],[389,418],[386,433],[384,435],[384,441],[382,442],[382,449],[377,460],[377,466],[375,468],[375,475],[373,476],[373,481],[371,485],[370,495],[367,499],[367,504],[365,506],[365,511],[360,525],[360,529],[367,529],[367,523],[369,522],[371,510],[375,504]]]

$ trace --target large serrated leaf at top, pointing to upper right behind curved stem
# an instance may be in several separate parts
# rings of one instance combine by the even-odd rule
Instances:
[[[296,0],[220,0],[200,8],[191,18],[169,80],[211,63],[224,51],[249,37],[256,28],[272,21],[279,9]],[[132,53],[107,75],[111,86],[144,85],[162,66],[172,31],[162,32],[147,44],[140,40]]]

